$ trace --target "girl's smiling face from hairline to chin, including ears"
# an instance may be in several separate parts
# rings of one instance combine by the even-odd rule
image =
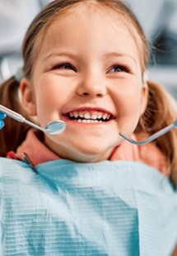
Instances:
[[[123,18],[83,5],[60,15],[45,32],[23,104],[40,126],[61,119],[67,128],[45,144],[66,159],[109,159],[144,111],[140,54]]]

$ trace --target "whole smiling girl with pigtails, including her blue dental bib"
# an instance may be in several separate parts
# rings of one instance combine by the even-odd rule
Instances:
[[[5,119],[2,255],[172,254],[176,131],[142,147],[119,135],[139,140],[176,116],[164,89],[144,79],[148,45],[133,13],[119,0],[51,2],[23,57],[23,78],[2,84],[1,104],[67,128],[43,135]]]

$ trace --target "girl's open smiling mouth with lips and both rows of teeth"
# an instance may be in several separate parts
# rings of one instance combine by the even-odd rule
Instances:
[[[68,119],[80,123],[102,123],[114,119],[114,116],[103,111],[71,111],[67,116]]]

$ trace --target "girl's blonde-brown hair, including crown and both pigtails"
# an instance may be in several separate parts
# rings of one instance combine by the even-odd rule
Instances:
[[[126,22],[129,31],[133,27],[133,31],[136,31],[137,35],[133,36],[138,49],[140,51],[140,58],[142,64],[142,75],[146,69],[148,62],[148,43],[146,36],[142,31],[142,27],[137,21],[137,17],[134,16],[133,12],[120,0],[55,0],[49,3],[48,6],[42,10],[35,20],[32,21],[23,42],[23,59],[24,59],[24,76],[26,78],[31,78],[32,69],[37,56],[36,41],[39,40],[40,36],[44,36],[44,31],[47,31],[48,27],[52,24],[54,19],[58,15],[68,12],[73,7],[76,7],[81,3],[93,3],[98,6],[107,7],[110,10],[118,12],[119,15],[123,17],[123,21]],[[133,34],[133,32],[132,32]],[[170,125],[176,118],[175,107],[171,104],[169,97],[161,85],[154,83],[152,81],[147,82],[149,88],[149,97],[147,102],[147,110],[140,118],[137,125],[135,133],[145,133],[151,135],[157,130]],[[12,88],[14,88],[12,92]],[[0,88],[0,102],[7,107],[11,107],[18,112],[26,115],[21,109],[20,103],[17,100],[17,88],[18,83],[15,82],[14,78],[9,79],[7,82],[3,83]],[[12,99],[12,94],[16,98],[15,102]],[[13,104],[9,103],[13,102]],[[9,122],[7,120],[7,122]],[[8,124],[7,124],[8,126]],[[16,128],[18,126],[18,128]],[[0,130],[0,141],[4,144],[1,146],[2,155],[5,155],[9,149],[16,149],[18,145],[21,144],[21,130],[24,133],[23,138],[26,135],[26,130],[28,127],[22,126],[19,128],[20,124],[13,122],[11,124],[11,130],[3,129]],[[8,132],[8,135],[7,135]],[[10,135],[16,133],[16,140],[12,146],[11,140],[7,141]],[[6,134],[6,135],[5,135]],[[170,169],[170,179],[173,183],[177,184],[177,133],[176,130],[171,130],[168,134],[161,136],[161,138],[155,141],[157,147],[165,154],[168,168]]]

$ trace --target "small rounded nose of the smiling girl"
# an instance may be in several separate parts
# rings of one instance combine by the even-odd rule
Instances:
[[[106,93],[106,81],[98,73],[83,76],[77,87],[77,94],[82,97],[104,97]]]

